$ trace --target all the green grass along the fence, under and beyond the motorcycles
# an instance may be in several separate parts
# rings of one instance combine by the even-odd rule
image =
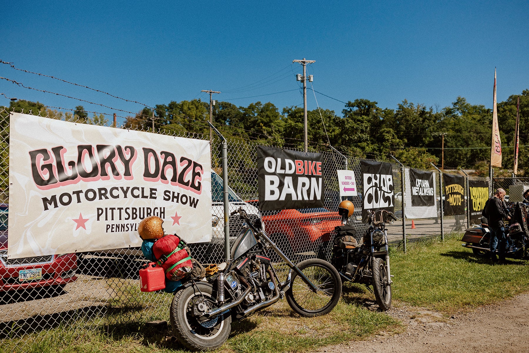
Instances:
[[[449,315],[529,290],[526,261],[491,265],[462,248],[458,239],[460,236],[449,236],[442,243],[432,240],[427,245],[415,244],[407,254],[391,252],[394,305],[402,302]],[[109,286],[114,297],[127,298],[127,303],[112,301],[104,318],[38,330],[22,339],[0,340],[0,353],[183,352],[178,343],[166,341],[170,328],[144,324],[154,319],[168,320],[171,295],[141,293],[135,283],[127,281],[116,280]],[[230,338],[217,353],[302,352],[381,331],[403,330],[397,320],[373,310],[375,307],[374,295],[365,286],[352,283],[344,284],[335,309],[318,318],[302,318],[282,300],[250,318],[233,322]]]

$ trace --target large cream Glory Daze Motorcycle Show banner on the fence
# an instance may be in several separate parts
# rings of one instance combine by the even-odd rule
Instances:
[[[10,258],[141,246],[138,223],[211,240],[209,141],[11,113]]]

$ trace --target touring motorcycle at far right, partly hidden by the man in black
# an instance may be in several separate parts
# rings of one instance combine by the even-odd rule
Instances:
[[[508,207],[512,218],[506,228],[508,249],[505,257],[515,259],[529,259],[529,232],[527,224],[526,204],[517,202]],[[490,228],[485,217],[481,217],[481,223],[467,229],[461,241],[461,246],[472,249],[479,257],[490,257]],[[496,249],[496,254],[498,254]]]

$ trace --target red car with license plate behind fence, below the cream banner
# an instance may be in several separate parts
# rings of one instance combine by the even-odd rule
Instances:
[[[15,289],[65,286],[77,277],[75,254],[7,258],[8,205],[0,204],[0,292]]]

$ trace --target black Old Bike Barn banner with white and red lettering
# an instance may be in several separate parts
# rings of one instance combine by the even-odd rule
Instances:
[[[322,153],[257,146],[257,168],[262,211],[323,207]]]

